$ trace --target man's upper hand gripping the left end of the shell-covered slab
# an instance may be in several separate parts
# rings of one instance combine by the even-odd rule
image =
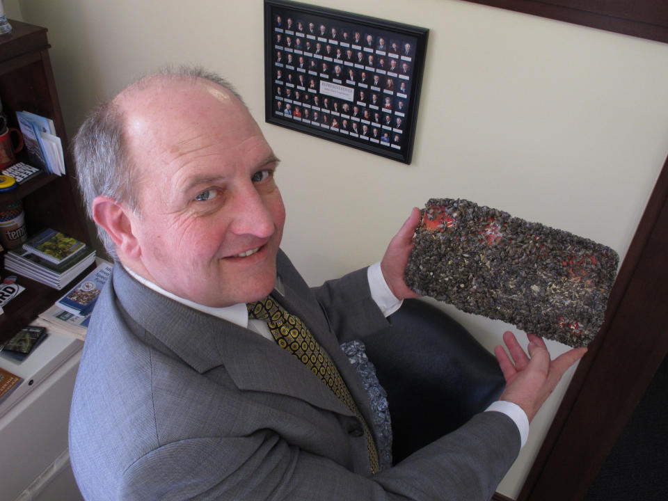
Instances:
[[[408,257],[413,250],[413,235],[417,225],[420,224],[420,209],[413,208],[411,216],[406,219],[399,232],[392,238],[388,250],[381,261],[381,271],[385,282],[390,287],[392,294],[397,299],[408,299],[419,297],[404,282],[404,271],[408,263]]]

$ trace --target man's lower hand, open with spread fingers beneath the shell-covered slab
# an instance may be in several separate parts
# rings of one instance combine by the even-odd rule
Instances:
[[[528,355],[520,347],[515,335],[506,332],[503,340],[510,356],[498,346],[494,354],[506,380],[506,389],[500,400],[520,406],[531,422],[550,393],[555,389],[564,372],[587,353],[587,348],[573,348],[550,360],[550,353],[541,337],[527,334]]]

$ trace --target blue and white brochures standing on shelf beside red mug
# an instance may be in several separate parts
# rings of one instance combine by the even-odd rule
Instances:
[[[17,111],[16,118],[28,150],[30,164],[49,174],[65,174],[61,138],[56,136],[54,121],[29,111]]]

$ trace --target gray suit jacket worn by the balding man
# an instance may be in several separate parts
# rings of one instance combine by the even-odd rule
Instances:
[[[287,257],[278,299],[330,354],[360,411],[340,342],[387,325],[365,270],[310,289]],[[391,402],[390,402],[391,405]],[[372,476],[357,418],[294,356],[113,271],[95,307],[70,415],[88,500],[488,500],[519,450],[516,426],[482,413]]]

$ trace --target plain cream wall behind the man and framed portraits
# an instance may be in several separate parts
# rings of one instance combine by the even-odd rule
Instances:
[[[283,248],[313,285],[378,260],[431,197],[469,198],[626,253],[668,152],[668,45],[459,0],[312,3],[431,30],[411,165],[264,124],[260,0],[6,8],[49,28],[70,136],[97,100],[155,67],[201,63],[229,77],[283,159]],[[490,349],[510,328],[443,308]],[[565,387],[534,420],[501,493],[518,495]]]

